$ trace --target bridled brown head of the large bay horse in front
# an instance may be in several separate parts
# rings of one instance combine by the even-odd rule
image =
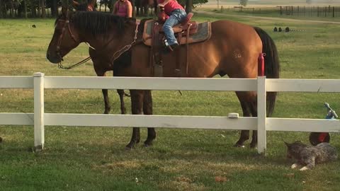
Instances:
[[[72,11],[67,11],[67,8],[62,8],[62,14],[55,21],[55,33],[46,53],[47,59],[54,64],[62,62],[62,57],[81,42],[70,19],[72,14]]]

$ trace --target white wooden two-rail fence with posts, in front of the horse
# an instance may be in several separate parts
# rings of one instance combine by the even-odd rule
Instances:
[[[35,73],[34,76],[0,76],[0,88],[34,88],[34,113],[0,113],[0,125],[34,125],[36,149],[43,149],[45,125],[257,129],[258,151],[262,154],[266,154],[266,131],[340,132],[339,120],[266,117],[266,92],[340,92],[340,80],[266,79],[265,76],[258,79],[103,78]],[[257,91],[258,117],[45,113],[44,90],[47,88]]]

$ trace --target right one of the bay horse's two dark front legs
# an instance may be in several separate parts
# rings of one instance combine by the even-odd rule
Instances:
[[[152,115],[152,94],[151,91],[145,91],[144,93],[144,104],[143,104],[144,115]],[[156,138],[156,131],[154,128],[147,128],[147,140],[144,142],[145,146],[151,146],[152,141]]]

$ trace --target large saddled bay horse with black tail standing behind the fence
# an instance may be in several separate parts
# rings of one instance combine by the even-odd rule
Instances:
[[[66,11],[67,12],[67,11]],[[87,42],[97,51],[103,52],[103,57],[110,62],[102,62],[112,67],[115,54],[124,47],[131,46],[132,60],[128,65],[113,67],[121,76],[153,76],[153,68],[149,66],[150,47],[144,45],[141,28],[134,18],[98,12],[67,12],[55,21],[55,32],[47,49],[47,59],[59,63],[62,57],[81,42]],[[258,57],[262,52],[265,57],[265,75],[268,78],[279,78],[280,64],[278,52],[271,37],[261,28],[252,27],[233,21],[214,21],[211,23],[211,37],[203,42],[190,45],[188,54],[190,63],[188,73],[183,77],[211,78],[219,74],[230,78],[253,79],[258,75]],[[137,41],[135,40],[137,38]],[[179,47],[183,49],[185,47]],[[164,55],[164,60],[176,63],[176,54]],[[176,64],[164,64],[164,77],[176,76]],[[132,114],[152,115],[152,94],[149,90],[130,90]],[[254,91],[237,91],[237,98],[242,108],[243,116],[257,117],[257,93]],[[267,115],[271,116],[276,101],[276,93],[267,93]],[[156,138],[154,128],[148,128],[145,146],[152,145]],[[244,146],[249,139],[249,130],[242,130],[239,140],[234,146]],[[127,149],[132,149],[140,141],[140,128],[133,127],[132,137]],[[257,144],[257,132],[251,139],[251,148]]]

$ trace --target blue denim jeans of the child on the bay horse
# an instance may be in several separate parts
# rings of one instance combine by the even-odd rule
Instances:
[[[179,9],[175,9],[174,11],[172,11],[169,18],[166,19],[163,25],[163,30],[164,30],[164,34],[165,34],[166,40],[168,40],[169,45],[179,44],[176,40],[176,37],[174,35],[174,30],[172,30],[172,27],[174,25],[181,23],[181,21],[184,18],[186,18],[186,11],[179,8]]]

